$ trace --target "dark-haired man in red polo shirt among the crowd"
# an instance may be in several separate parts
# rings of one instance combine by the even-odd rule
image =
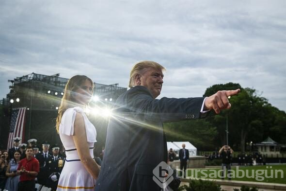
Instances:
[[[33,156],[32,147],[27,147],[26,158],[20,160],[17,175],[20,175],[18,191],[35,191],[35,178],[40,171],[39,161]]]

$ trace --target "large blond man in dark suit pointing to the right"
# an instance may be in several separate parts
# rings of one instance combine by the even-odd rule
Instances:
[[[153,170],[162,161],[167,163],[163,122],[202,118],[209,109],[219,113],[230,108],[227,96],[239,92],[158,100],[162,70],[164,67],[152,61],[139,62],[131,70],[130,89],[117,99],[109,121],[95,191],[160,191],[161,185],[153,180]]]

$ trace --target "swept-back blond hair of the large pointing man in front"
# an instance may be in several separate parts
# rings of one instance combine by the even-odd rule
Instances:
[[[130,72],[129,87],[135,86],[135,76],[137,74],[142,75],[148,68],[160,69],[162,71],[166,70],[163,66],[157,62],[143,60],[136,63]]]

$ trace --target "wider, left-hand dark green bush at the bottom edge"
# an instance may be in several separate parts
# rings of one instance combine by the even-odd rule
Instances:
[[[190,180],[189,186],[182,186],[178,191],[224,191],[221,186],[216,184],[214,181],[208,180]]]

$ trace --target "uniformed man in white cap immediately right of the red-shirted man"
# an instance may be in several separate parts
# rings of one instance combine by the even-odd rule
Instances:
[[[47,163],[48,163],[48,158],[51,157],[52,154],[48,151],[49,150],[48,142],[43,143],[42,147],[43,151],[36,155],[36,159],[38,159],[40,163],[40,172],[37,176],[37,180],[39,184],[46,186],[48,179]]]

